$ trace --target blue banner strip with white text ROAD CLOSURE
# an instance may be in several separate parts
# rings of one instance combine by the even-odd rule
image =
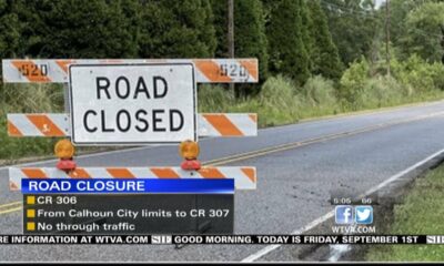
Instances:
[[[172,193],[172,194],[234,194],[234,178],[132,178],[132,180],[68,180],[22,178],[23,194],[49,193]]]

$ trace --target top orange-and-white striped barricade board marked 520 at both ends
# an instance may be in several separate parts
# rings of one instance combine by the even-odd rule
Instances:
[[[72,64],[193,63],[198,83],[254,83],[256,59],[6,59],[4,83],[68,83]]]

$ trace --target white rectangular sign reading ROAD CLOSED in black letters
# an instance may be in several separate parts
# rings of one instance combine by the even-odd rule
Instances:
[[[70,105],[79,145],[196,141],[191,63],[71,65]]]

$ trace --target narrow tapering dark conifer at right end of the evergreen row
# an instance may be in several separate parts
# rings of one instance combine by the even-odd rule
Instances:
[[[337,48],[333,43],[329,31],[329,24],[319,0],[307,1],[307,13],[310,38],[313,44],[310,49],[312,62],[311,72],[322,74],[325,78],[337,80],[341,78],[343,65],[341,63]]]

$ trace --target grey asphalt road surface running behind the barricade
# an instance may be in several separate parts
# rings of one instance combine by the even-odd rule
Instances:
[[[444,102],[265,129],[256,137],[206,139],[201,141],[200,158],[206,162],[295,142],[301,145],[226,164],[258,168],[258,190],[235,194],[236,234],[290,234],[333,209],[331,191],[359,195],[442,150]],[[77,161],[81,166],[165,166],[178,165],[180,157],[176,146],[149,146]],[[0,168],[0,208],[20,200],[20,193],[8,190],[7,168]],[[21,234],[21,216],[19,211],[0,214],[0,233]],[[239,262],[263,247],[0,245],[0,262]],[[280,259],[279,252],[261,259]]]

